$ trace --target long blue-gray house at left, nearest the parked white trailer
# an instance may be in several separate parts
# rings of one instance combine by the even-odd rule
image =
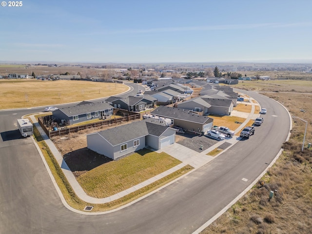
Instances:
[[[84,122],[87,120],[113,115],[114,107],[107,102],[83,101],[76,106],[62,107],[53,111],[53,117],[65,120],[68,124]]]

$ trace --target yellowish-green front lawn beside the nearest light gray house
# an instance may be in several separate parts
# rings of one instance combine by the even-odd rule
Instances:
[[[93,197],[108,197],[129,189],[180,164],[166,153],[143,149],[117,161],[105,163],[77,178]]]

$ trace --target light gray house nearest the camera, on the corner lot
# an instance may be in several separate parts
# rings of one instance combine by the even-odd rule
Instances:
[[[112,159],[150,146],[160,150],[175,143],[176,131],[150,119],[87,135],[87,147]]]

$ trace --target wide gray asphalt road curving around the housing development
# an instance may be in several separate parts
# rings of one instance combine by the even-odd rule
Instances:
[[[155,194],[105,215],[81,215],[61,203],[32,140],[14,131],[17,118],[36,110],[0,112],[0,233],[193,233],[263,172],[289,133],[290,119],[281,105],[249,94],[268,110],[254,136]]]

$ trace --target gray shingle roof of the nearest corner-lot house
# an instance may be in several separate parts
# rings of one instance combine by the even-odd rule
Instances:
[[[146,119],[106,129],[98,132],[98,134],[115,146],[147,135],[159,137],[167,128],[158,122]]]

